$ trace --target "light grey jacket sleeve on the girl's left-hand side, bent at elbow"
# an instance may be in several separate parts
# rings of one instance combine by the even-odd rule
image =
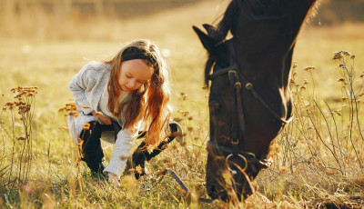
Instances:
[[[75,96],[75,102],[82,110],[84,114],[91,114],[94,111],[92,108],[84,108],[84,106],[90,106],[86,99],[86,92],[91,91],[94,84],[94,79],[91,79],[90,76],[90,65],[85,65],[79,72],[76,74],[71,82],[68,85],[69,90],[71,90],[72,95]]]

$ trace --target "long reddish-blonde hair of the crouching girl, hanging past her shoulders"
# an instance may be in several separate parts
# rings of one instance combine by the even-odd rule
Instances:
[[[123,61],[132,59],[143,59],[147,65],[153,67],[154,73],[149,82],[131,92],[130,98],[120,104],[118,102],[122,92],[118,84],[120,66]],[[123,112],[123,128],[134,128],[136,123],[143,120],[149,125],[145,142],[147,145],[155,146],[166,137],[164,129],[172,111],[169,104],[170,85],[167,65],[157,45],[144,39],[136,40],[104,63],[111,65],[107,84],[108,110],[116,117],[120,117]]]

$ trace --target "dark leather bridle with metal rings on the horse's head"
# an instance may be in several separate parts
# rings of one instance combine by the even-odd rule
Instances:
[[[235,47],[234,48],[234,55],[235,53]],[[238,65],[229,65],[225,68],[219,69],[217,72],[208,75],[208,80],[213,81],[215,78],[221,75],[227,75],[230,83],[230,104],[231,104],[231,118],[232,123],[230,124],[230,143],[232,145],[232,148],[217,144],[217,142],[212,142],[212,140],[209,140],[207,143],[207,148],[209,149],[217,149],[219,151],[223,151],[224,153],[227,153],[226,157],[226,163],[228,163],[228,159],[231,156],[238,156],[241,158],[244,162],[244,169],[243,172],[248,166],[248,162],[252,163],[250,164],[250,168],[253,170],[253,172],[257,172],[257,166],[258,168],[268,168],[273,161],[271,158],[269,159],[258,159],[255,154],[241,151],[239,150],[239,139],[238,139],[238,121],[239,121],[239,128],[243,132],[245,131],[245,118],[244,118],[244,111],[243,111],[243,105],[242,105],[242,95],[241,95],[241,89],[242,86],[245,86],[245,88],[250,92],[258,101],[263,104],[264,107],[268,110],[270,114],[274,116],[282,125],[288,124],[293,119],[293,114],[289,115],[288,118],[283,118],[279,116],[269,105],[267,102],[264,101],[264,99],[258,95],[258,92],[255,90],[254,85],[252,85],[250,82],[248,82],[248,79],[238,70]],[[238,112],[238,114],[237,114]],[[227,164],[228,165],[228,164]],[[236,174],[236,171],[231,170],[229,166],[227,166],[231,173]]]

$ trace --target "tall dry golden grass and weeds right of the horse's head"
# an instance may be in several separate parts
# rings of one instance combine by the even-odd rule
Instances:
[[[314,94],[312,79],[296,80],[298,74],[313,78],[315,67],[298,71],[293,65],[295,119],[271,146],[274,168],[258,178],[259,192],[270,201],[309,208],[363,204],[363,75],[357,75],[355,55],[340,51],[333,60],[342,76],[337,84],[341,101],[333,104]]]

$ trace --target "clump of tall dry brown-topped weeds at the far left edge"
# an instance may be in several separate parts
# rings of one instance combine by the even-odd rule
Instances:
[[[37,87],[15,87],[14,97],[3,105],[0,130],[3,152],[0,176],[5,182],[2,190],[15,190],[28,183],[33,159],[33,117]],[[5,96],[5,95],[4,95]],[[3,96],[3,97],[4,97]]]

